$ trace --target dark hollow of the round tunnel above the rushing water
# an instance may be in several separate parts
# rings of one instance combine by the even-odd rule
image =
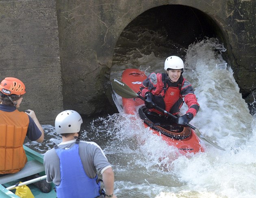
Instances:
[[[212,37],[223,43],[221,30],[202,11],[183,5],[158,6],[145,11],[126,26],[115,46],[113,65],[129,62],[127,54],[135,49],[138,52],[133,56],[137,57],[153,52],[156,57],[172,54],[184,58],[191,43]]]

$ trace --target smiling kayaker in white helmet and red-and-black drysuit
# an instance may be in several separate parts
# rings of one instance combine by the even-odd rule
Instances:
[[[151,73],[140,86],[141,95],[145,98],[145,106],[150,112],[163,114],[154,108],[160,106],[167,112],[177,115],[174,120],[178,125],[188,124],[197,114],[200,106],[191,84],[182,77],[184,63],[178,56],[169,56],[165,60],[165,73]],[[180,116],[180,108],[184,102],[189,109]]]

